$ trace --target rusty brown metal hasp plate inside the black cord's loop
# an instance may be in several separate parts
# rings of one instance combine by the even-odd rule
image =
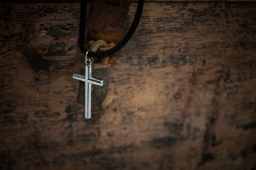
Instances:
[[[130,4],[131,1],[127,0],[93,0],[86,30],[86,47],[90,48],[90,40],[118,43],[123,36]]]

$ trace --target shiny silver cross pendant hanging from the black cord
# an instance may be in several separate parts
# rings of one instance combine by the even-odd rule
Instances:
[[[85,73],[84,76],[80,74],[73,74],[73,78],[76,80],[84,81],[84,110],[85,118],[91,118],[91,98],[92,98],[92,84],[103,85],[103,81],[98,78],[92,77],[92,61],[90,59],[85,62]]]

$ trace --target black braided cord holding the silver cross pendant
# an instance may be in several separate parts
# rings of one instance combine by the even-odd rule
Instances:
[[[105,52],[91,52],[91,51],[88,51],[84,46],[87,0],[81,0],[80,26],[79,26],[79,48],[81,52],[86,54],[88,57],[97,57],[97,58],[108,57],[109,55],[113,55],[114,53],[118,52],[123,46],[125,46],[125,44],[129,41],[129,39],[134,34],[140,22],[141,13],[143,10],[143,4],[144,4],[144,0],[138,0],[138,6],[137,6],[136,14],[134,16],[132,25],[129,31],[127,32],[127,34],[125,34],[124,38],[122,38],[121,41],[116,46],[114,46],[113,48],[110,48]]]

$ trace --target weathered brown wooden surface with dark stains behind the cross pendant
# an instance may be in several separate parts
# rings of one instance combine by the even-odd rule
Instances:
[[[256,168],[255,3],[145,5],[87,121],[78,14],[1,4],[0,169]]]

